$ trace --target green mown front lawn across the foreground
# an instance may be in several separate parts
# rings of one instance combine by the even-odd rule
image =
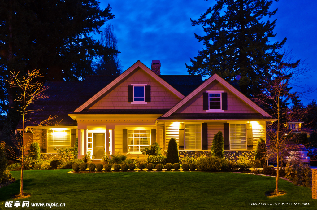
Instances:
[[[65,207],[30,209],[316,209],[311,189],[280,180],[284,196],[267,198],[275,188],[273,177],[208,172],[110,172],[71,174],[70,170],[24,172],[24,192],[19,201],[65,203]],[[19,192],[16,182],[0,188],[0,209]],[[13,200],[14,201],[14,200]],[[249,206],[249,202],[310,202],[310,206]],[[12,209],[21,209],[21,207]],[[24,209],[24,207],[23,207]]]

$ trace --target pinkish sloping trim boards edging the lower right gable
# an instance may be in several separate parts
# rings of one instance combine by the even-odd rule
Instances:
[[[187,95],[183,100],[178,102],[174,107],[172,107],[168,112],[166,112],[162,117],[169,117],[171,114],[173,114],[178,108],[183,106],[186,102],[188,102],[193,96],[195,96],[197,93],[199,93],[202,89],[204,89],[207,85],[210,84],[210,82],[217,80],[220,84],[222,84],[224,87],[226,87],[228,90],[230,90],[234,95],[236,95],[238,98],[240,98],[242,101],[244,101],[246,104],[248,104],[251,108],[259,112],[265,117],[271,117],[266,111],[264,111],[262,108],[260,108],[258,105],[256,105],[254,102],[252,102],[247,96],[243,95],[240,91],[238,91],[236,88],[234,88],[232,85],[230,85],[227,81],[225,81],[223,78],[221,78],[219,75],[214,74],[211,77],[209,77],[203,84],[201,84],[197,89],[195,89],[193,92],[191,92],[189,95]]]

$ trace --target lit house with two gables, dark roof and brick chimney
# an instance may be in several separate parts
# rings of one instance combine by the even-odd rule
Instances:
[[[166,154],[172,137],[180,157],[208,155],[218,131],[227,158],[254,156],[258,139],[266,138],[266,124],[276,119],[243,95],[235,81],[217,74],[205,81],[199,75],[160,75],[160,66],[159,60],[151,69],[137,61],[121,75],[47,81],[49,98],[29,117],[39,121],[56,115],[60,123],[33,133],[35,125],[27,122],[24,130],[39,142],[44,159],[58,158],[54,147],[73,147],[76,138],[78,158],[91,151],[98,160],[119,150],[142,158],[142,149],[153,142]]]

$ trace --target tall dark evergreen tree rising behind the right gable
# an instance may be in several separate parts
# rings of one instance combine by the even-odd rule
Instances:
[[[276,0],[275,0],[276,1]],[[270,21],[277,9],[269,11],[273,0],[217,0],[216,4],[191,24],[202,25],[206,35],[195,37],[205,48],[187,65],[190,74],[213,75],[226,80],[241,75],[239,86],[247,96],[258,93],[262,75],[281,61],[277,50],[286,42],[270,43],[276,36],[276,19]],[[269,18],[268,18],[269,17]]]

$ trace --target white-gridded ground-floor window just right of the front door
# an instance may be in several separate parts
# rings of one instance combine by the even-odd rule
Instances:
[[[129,152],[141,152],[151,144],[150,130],[128,130]]]

